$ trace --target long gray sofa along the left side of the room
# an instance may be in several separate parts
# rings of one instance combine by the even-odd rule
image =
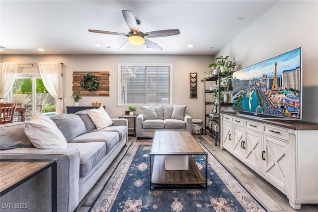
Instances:
[[[58,211],[73,212],[125,146],[126,119],[96,129],[86,111],[52,116],[66,138],[67,149],[38,149],[24,133],[25,122],[0,125],[0,159],[57,159]],[[26,204],[21,211],[51,211],[51,170],[25,182],[1,197],[2,204]],[[16,209],[1,209],[1,212]]]

